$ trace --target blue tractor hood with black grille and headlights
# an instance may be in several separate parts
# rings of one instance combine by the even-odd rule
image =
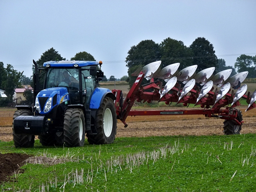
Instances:
[[[67,87],[52,87],[40,91],[36,96],[36,110],[39,114],[49,113],[60,103],[70,100]]]

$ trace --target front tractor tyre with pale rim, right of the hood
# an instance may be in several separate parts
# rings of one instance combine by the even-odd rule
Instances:
[[[85,138],[84,112],[70,108],[64,116],[64,141],[66,147],[82,147]]]

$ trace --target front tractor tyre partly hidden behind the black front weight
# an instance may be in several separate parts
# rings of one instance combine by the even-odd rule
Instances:
[[[32,111],[28,109],[22,109],[14,112],[13,118],[12,118],[12,135],[13,135],[14,146],[16,148],[34,147],[35,135],[20,135],[14,132],[13,122],[17,116],[32,116]]]

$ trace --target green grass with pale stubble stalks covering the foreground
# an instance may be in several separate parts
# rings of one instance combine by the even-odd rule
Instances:
[[[80,148],[0,142],[1,153],[37,156],[1,191],[253,191],[255,136],[116,138]]]

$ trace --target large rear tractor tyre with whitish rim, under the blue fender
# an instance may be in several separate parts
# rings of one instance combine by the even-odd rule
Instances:
[[[97,135],[86,134],[90,144],[111,144],[116,137],[116,108],[111,98],[104,98],[96,111]]]

